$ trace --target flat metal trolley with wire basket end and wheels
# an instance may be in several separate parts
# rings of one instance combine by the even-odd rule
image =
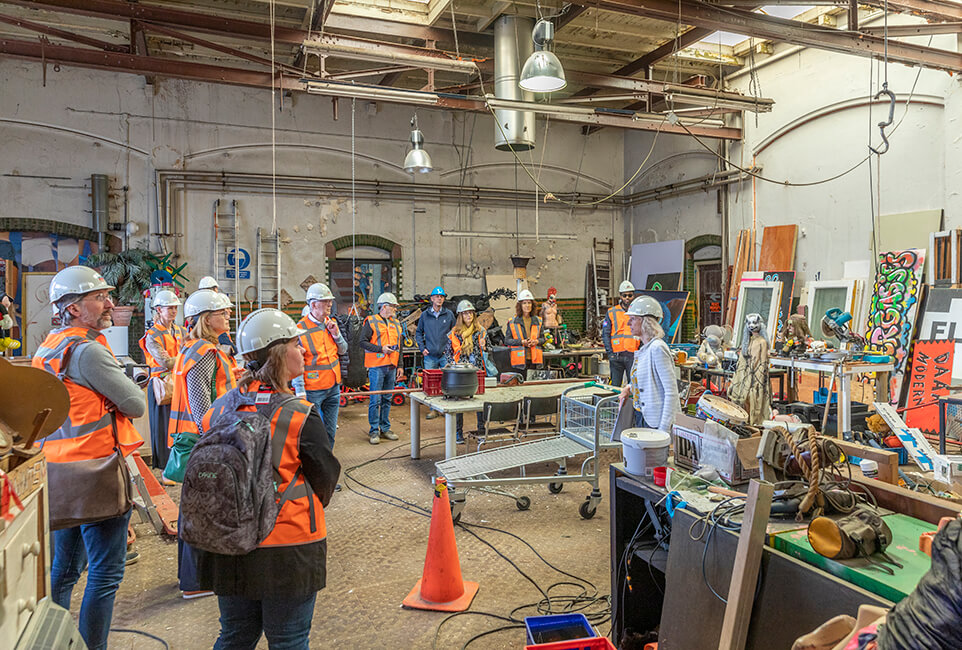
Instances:
[[[531,507],[531,499],[515,496],[505,488],[544,483],[549,492],[558,494],[564,489],[565,483],[576,481],[591,484],[591,493],[581,504],[579,513],[584,519],[594,517],[601,503],[598,451],[621,446],[620,442],[611,440],[618,420],[618,390],[597,382],[572,386],[561,395],[560,433],[557,436],[486,449],[435,463],[438,476],[447,479],[451,489],[451,509],[455,521],[460,519],[467,492],[471,489],[508,497],[514,500],[518,510],[527,510]],[[569,474],[568,459],[584,454],[588,456],[581,462],[580,472]],[[527,473],[527,466],[543,463],[557,463],[557,472]],[[520,476],[496,476],[516,469],[520,469]]]

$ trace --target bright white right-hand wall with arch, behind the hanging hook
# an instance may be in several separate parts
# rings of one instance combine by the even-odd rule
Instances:
[[[876,24],[879,20],[866,22],[863,18],[862,23]],[[922,45],[929,42],[928,37],[911,40]],[[934,37],[931,45],[957,51],[954,36]],[[773,55],[758,55],[756,63],[761,94],[773,98],[775,107],[771,113],[759,115],[757,124],[754,115],[746,114],[744,143],[734,143],[730,150],[734,162],[749,167],[756,156],[755,162],[766,177],[809,182],[834,176],[864,158],[869,135],[873,145],[880,144],[875,125],[885,119],[887,106],[877,104],[870,109],[864,105],[878,90],[878,62],[776,45]],[[880,182],[880,193],[870,191],[867,164],[838,180],[812,187],[758,181],[754,206],[750,182],[732,185],[732,250],[738,231],[750,228],[753,216],[759,231],[758,247],[764,226],[796,223],[800,227],[796,270],[804,283],[841,278],[846,260],[871,259],[873,195],[882,214],[942,208],[947,227],[962,226],[962,89],[957,77],[922,71],[906,111],[905,102],[917,74],[918,68],[889,66],[889,87],[899,98],[895,122],[898,124],[903,116],[904,121],[890,138],[889,153],[881,157],[880,176],[873,156],[873,183]],[[728,80],[733,89],[746,94],[749,82],[747,71]],[[626,175],[630,176],[645,159],[653,138],[639,132],[626,134]],[[717,169],[717,162],[691,138],[659,135],[647,164],[652,171],[643,173],[632,189],[710,174]],[[720,234],[717,212],[715,191],[637,206],[626,214],[626,240],[640,243]]]

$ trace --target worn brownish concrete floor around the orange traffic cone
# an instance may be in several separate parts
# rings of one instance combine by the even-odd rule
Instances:
[[[410,457],[407,404],[391,412],[400,441],[372,446],[367,441],[366,404],[352,403],[341,410],[335,453],[348,469],[383,457],[353,472],[372,488],[396,494],[430,509],[430,477],[443,456],[443,419],[422,422],[421,460]],[[470,418],[469,418],[470,419]],[[464,446],[459,451],[464,452]],[[558,569],[591,581],[598,595],[610,591],[608,462],[602,462],[601,489],[605,500],[593,519],[583,520],[578,507],[590,491],[587,483],[568,484],[558,495],[541,485],[522,486],[518,495],[531,498],[531,508],[519,511],[503,497],[472,493],[462,521],[510,531],[528,541]],[[574,467],[574,465],[570,465]],[[401,601],[421,576],[427,547],[429,519],[420,514],[372,501],[375,495],[342,475],[344,490],[327,508],[328,584],[318,594],[311,633],[314,648],[431,648],[445,614],[401,607]],[[172,495],[177,497],[177,490]],[[134,516],[137,520],[137,516]],[[143,630],[164,638],[173,649],[210,648],[217,638],[217,601],[185,601],[177,588],[175,540],[137,524],[136,548],[141,559],[127,568],[117,596],[113,627]],[[476,530],[514,561],[542,589],[570,580],[552,570],[518,540],[488,530]],[[537,602],[541,593],[494,550],[469,532],[456,529],[461,570],[465,579],[480,583],[471,611],[509,616],[520,605]],[[74,592],[74,611],[80,606],[83,583]],[[590,588],[589,588],[590,589]],[[580,592],[568,587],[552,595]],[[604,609],[601,604],[600,609]],[[594,608],[597,611],[599,608]],[[536,614],[533,610],[522,616]],[[438,648],[460,648],[470,637],[509,623],[484,616],[460,616],[445,624]],[[608,631],[608,623],[600,626]],[[486,636],[470,648],[517,649],[523,647],[524,630],[511,629]],[[155,650],[151,639],[131,634],[111,636],[111,648]],[[267,648],[264,639],[258,648]]]

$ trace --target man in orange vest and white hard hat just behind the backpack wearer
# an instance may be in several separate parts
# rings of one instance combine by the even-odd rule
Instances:
[[[304,390],[307,401],[317,407],[334,448],[337,411],[341,401],[340,354],[347,353],[347,341],[337,321],[331,318],[334,294],[326,284],[316,282],[307,289],[309,311],[297,323],[304,353]]]

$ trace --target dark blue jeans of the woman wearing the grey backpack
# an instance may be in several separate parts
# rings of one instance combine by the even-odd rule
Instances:
[[[317,594],[252,600],[218,596],[220,636],[214,650],[254,650],[261,632],[271,650],[307,650]]]

